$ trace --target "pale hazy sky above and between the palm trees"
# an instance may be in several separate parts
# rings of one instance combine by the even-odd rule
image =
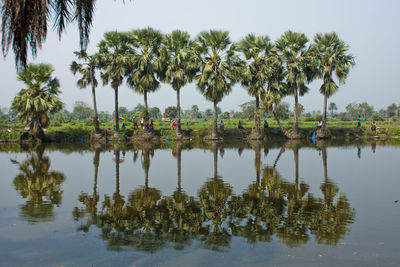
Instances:
[[[248,33],[268,35],[275,41],[287,30],[303,32],[312,40],[315,33],[335,31],[350,46],[356,66],[351,69],[346,84],[328,102],[335,102],[339,110],[350,102],[366,101],[375,110],[386,108],[392,103],[400,104],[400,1],[398,0],[99,0],[90,35],[89,53],[106,31],[128,31],[153,27],[163,33],[175,29],[188,31],[192,37],[209,29],[228,30],[232,41],[239,41]],[[69,70],[73,51],[79,50],[76,25],[70,26],[61,41],[54,31],[48,37],[42,50],[38,51],[32,63],[52,64],[54,76],[60,79],[61,100],[68,110],[75,101],[83,100],[91,105],[91,90],[76,86],[78,76]],[[9,53],[0,61],[1,107],[9,107],[17,92],[24,84],[17,82],[14,54]],[[101,84],[101,83],[100,83]],[[320,80],[310,85],[311,90],[299,102],[306,111],[322,110],[323,97],[318,89]],[[119,90],[120,106],[132,109],[143,103],[143,96],[133,93],[125,84]],[[195,84],[187,85],[181,91],[183,109],[198,105],[200,110],[212,108]],[[114,91],[108,86],[97,88],[99,110],[114,109]],[[150,106],[162,111],[176,105],[175,91],[169,85],[148,96]],[[223,111],[240,110],[238,105],[253,100],[245,88],[235,86],[230,95],[224,97],[219,106]],[[284,101],[293,103],[292,97]]]

